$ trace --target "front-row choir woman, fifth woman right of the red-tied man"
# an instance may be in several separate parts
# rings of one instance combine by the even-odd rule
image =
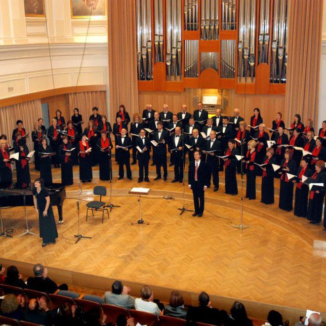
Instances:
[[[295,201],[294,201],[294,215],[299,217],[307,217],[308,209],[308,193],[309,187],[302,183],[302,176],[311,177],[313,174],[309,168],[309,160],[302,159],[300,167],[297,170],[296,175],[300,178],[300,181],[293,180],[292,182],[298,182],[295,189]]]

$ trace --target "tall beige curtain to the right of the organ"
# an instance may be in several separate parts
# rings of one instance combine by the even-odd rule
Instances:
[[[323,0],[288,1],[288,58],[285,122],[296,113],[317,127]]]

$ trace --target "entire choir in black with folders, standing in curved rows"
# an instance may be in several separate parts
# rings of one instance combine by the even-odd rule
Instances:
[[[92,166],[99,163],[100,180],[112,179],[112,149],[119,164],[119,180],[126,176],[132,180],[132,164],[138,161],[138,182],[149,182],[149,161],[156,165],[154,180],[167,180],[167,152],[170,166],[174,165],[172,182],[183,182],[186,156],[194,162],[194,153],[200,153],[207,174],[207,187],[212,181],[214,192],[219,189],[219,172],[225,170],[225,193],[238,194],[237,172],[246,174],[246,194],[249,200],[256,199],[256,177],[261,176],[261,203],[274,203],[274,179],[280,178],[279,208],[293,209],[294,215],[308,218],[312,224],[322,219],[325,200],[326,121],[315,136],[313,121],[305,125],[300,115],[294,116],[290,127],[285,127],[282,113],[276,114],[271,128],[263,123],[259,108],[254,108],[247,126],[239,109],[234,115],[222,116],[217,109],[212,118],[203,104],[191,115],[187,106],[173,114],[163,105],[157,112],[147,105],[142,115],[134,114],[132,121],[121,105],[116,113],[116,122],[111,126],[106,115],[100,115],[94,107],[87,126],[82,130],[83,119],[75,108],[71,119],[66,122],[61,111],[56,110],[51,125],[46,129],[40,118],[32,131],[35,169],[40,171],[44,185],[52,183],[51,166],[61,167],[62,183],[73,184],[73,165],[80,168],[82,182],[92,180]],[[130,123],[130,125],[129,125]],[[12,132],[13,147],[5,135],[0,137],[0,187],[12,184],[12,164],[16,162],[17,188],[26,188],[31,182],[29,155],[26,145],[28,133],[23,122],[18,120]],[[129,131],[128,131],[129,126]],[[248,127],[248,129],[247,129]],[[266,130],[268,129],[268,130]],[[268,132],[269,131],[269,132]],[[113,134],[115,144],[111,141]],[[49,144],[47,139],[49,139]],[[10,151],[17,153],[11,159]],[[195,165],[194,165],[195,166]],[[308,181],[306,181],[306,179]],[[312,186],[309,187],[308,183]],[[296,187],[294,188],[294,184]],[[321,186],[323,184],[323,186]],[[326,221],[325,230],[326,230]]]

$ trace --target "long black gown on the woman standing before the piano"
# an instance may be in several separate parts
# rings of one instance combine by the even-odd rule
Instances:
[[[38,194],[36,188],[33,189],[33,195],[36,197],[38,210],[39,210],[39,223],[40,223],[40,238],[43,239],[43,243],[54,243],[58,238],[58,231],[55,225],[53,209],[51,204],[47,210],[47,216],[43,216],[43,211],[46,206],[46,197],[49,196],[49,192],[46,188],[41,188]]]

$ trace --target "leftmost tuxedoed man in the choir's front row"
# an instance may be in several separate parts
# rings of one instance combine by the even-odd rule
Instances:
[[[125,128],[121,129],[121,136],[117,137],[116,150],[119,153],[119,178],[118,180],[123,179],[124,171],[123,165],[125,165],[127,171],[127,178],[132,180],[131,169],[130,169],[130,148],[132,147],[130,137],[126,136],[127,130]],[[126,148],[122,148],[126,147]]]

